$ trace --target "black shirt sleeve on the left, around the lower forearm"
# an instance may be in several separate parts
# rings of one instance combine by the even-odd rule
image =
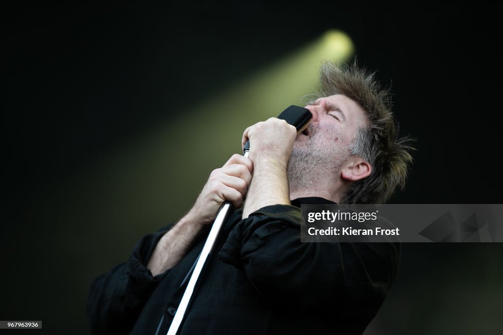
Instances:
[[[146,265],[164,228],[143,237],[127,263],[96,278],[91,284],[86,310],[93,334],[127,334],[157,284],[170,271],[152,276]]]

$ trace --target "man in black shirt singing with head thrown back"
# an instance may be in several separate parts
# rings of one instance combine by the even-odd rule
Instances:
[[[324,63],[311,125],[248,127],[249,157],[214,170],[175,225],[145,236],[127,263],[98,277],[87,311],[95,334],[165,334],[209,227],[224,222],[180,334],[361,334],[396,276],[395,243],[301,243],[301,204],[384,203],[405,183],[409,141],[389,95],[355,65]]]

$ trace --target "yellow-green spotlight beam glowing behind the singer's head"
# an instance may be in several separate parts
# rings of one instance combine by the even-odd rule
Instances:
[[[186,110],[177,112],[175,122],[158,124],[142,139],[131,139],[82,168],[59,192],[90,196],[59,208],[66,208],[68,216],[82,211],[75,208],[79,203],[101,208],[88,213],[91,217],[86,221],[109,229],[120,226],[132,236],[157,229],[141,222],[179,218],[190,209],[211,170],[240,153],[247,126],[278,116],[290,104],[300,104],[300,97],[316,88],[320,61],[347,61],[353,52],[346,34],[329,31],[243,78],[242,84],[207,101],[191,101]]]

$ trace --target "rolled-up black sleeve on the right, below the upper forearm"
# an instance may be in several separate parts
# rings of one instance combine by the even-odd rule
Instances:
[[[220,260],[270,301],[310,309],[338,299],[345,312],[375,313],[396,276],[399,244],[301,243],[303,221],[298,207],[263,207],[233,228]]]

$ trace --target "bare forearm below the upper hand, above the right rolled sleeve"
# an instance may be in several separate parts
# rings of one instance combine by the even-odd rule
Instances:
[[[269,205],[290,204],[287,164],[273,159],[257,159],[255,174],[246,195],[242,218]]]

